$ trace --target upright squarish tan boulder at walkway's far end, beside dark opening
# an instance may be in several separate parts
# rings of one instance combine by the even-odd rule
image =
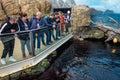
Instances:
[[[89,26],[90,25],[90,8],[86,5],[72,7],[71,25],[75,29],[77,27]]]

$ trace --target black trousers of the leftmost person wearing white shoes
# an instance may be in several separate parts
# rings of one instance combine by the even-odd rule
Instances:
[[[10,40],[8,42],[3,43],[4,50],[1,58],[6,58],[7,54],[9,53],[9,57],[13,56],[15,40]]]

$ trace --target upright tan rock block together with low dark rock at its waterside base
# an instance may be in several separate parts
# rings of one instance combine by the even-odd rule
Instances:
[[[90,8],[88,6],[74,6],[71,11],[71,26],[73,26],[75,37],[80,39],[102,39],[104,31],[91,28]]]

